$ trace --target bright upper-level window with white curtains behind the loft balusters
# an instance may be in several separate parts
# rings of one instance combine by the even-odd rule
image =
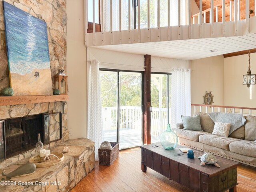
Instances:
[[[121,0],[121,30],[129,28],[129,1],[130,1],[130,29],[138,28],[138,0]],[[140,0],[140,28],[148,28],[148,14],[150,28],[157,27],[158,0]],[[168,0],[160,0],[160,27],[168,26]],[[180,0],[180,24],[186,25],[188,0]],[[112,0],[112,31],[119,27],[119,0]],[[170,26],[178,25],[178,0],[170,0]],[[104,31],[110,31],[110,0],[104,0]]]

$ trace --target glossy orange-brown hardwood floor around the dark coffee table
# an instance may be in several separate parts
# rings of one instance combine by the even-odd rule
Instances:
[[[71,192],[190,192],[186,187],[147,169],[141,171],[140,148],[120,151],[111,166],[99,166],[83,178]],[[239,166],[237,191],[256,192],[256,168]]]

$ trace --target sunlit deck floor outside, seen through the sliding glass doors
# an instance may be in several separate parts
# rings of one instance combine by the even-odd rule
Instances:
[[[120,131],[120,149],[126,149],[142,145],[141,132],[134,129],[122,129]],[[116,130],[104,131],[104,140],[116,142]],[[159,136],[151,136],[152,143],[160,142]]]

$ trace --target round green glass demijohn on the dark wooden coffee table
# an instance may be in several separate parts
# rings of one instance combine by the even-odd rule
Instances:
[[[178,136],[171,130],[170,124],[167,124],[167,130],[160,135],[160,141],[166,150],[174,150],[178,144]]]

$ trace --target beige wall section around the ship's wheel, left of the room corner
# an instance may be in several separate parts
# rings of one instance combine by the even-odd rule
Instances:
[[[224,59],[223,55],[192,60],[191,103],[203,104],[206,91],[212,91],[213,105],[224,105]]]

